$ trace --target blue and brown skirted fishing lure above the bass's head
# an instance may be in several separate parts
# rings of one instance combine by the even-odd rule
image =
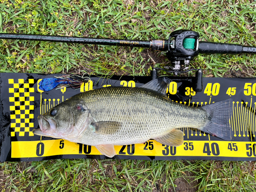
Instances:
[[[65,87],[71,87],[72,89],[78,89],[81,84],[87,83],[90,80],[90,76],[85,74],[68,74],[55,76],[55,78],[44,78],[39,82],[39,89],[42,91],[51,91],[53,89],[63,89]]]

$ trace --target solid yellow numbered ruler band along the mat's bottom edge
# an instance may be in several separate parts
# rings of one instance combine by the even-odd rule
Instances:
[[[95,146],[67,140],[14,141],[12,158],[56,155],[101,155]],[[28,150],[29,149],[29,150]],[[246,149],[246,150],[244,150]],[[256,157],[256,142],[184,141],[180,146],[163,145],[155,140],[141,144],[115,146],[117,155],[180,157]]]

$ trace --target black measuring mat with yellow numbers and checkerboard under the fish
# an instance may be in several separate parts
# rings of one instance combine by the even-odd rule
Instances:
[[[91,77],[79,89],[63,88],[44,92],[38,83],[58,74],[0,73],[0,162],[40,161],[62,158],[108,158],[94,146],[63,139],[40,137],[37,116],[80,92],[108,86],[139,87],[151,80],[143,76]],[[201,106],[231,98],[232,140],[225,141],[197,129],[184,127],[184,143],[178,147],[148,140],[141,144],[115,146],[115,159],[142,160],[256,160],[256,78],[203,78],[203,91],[193,91],[194,77],[169,77],[166,90],[174,102]],[[157,120],[157,119],[156,119]],[[172,119],[170,119],[172,121]]]

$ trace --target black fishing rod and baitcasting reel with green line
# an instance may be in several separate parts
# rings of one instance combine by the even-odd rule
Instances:
[[[255,54],[256,47],[247,47],[237,44],[225,44],[220,42],[199,41],[199,33],[191,30],[177,30],[170,34],[168,39],[151,40],[124,40],[124,39],[103,39],[86,37],[50,36],[50,35],[29,35],[29,34],[10,34],[0,33],[0,39],[19,39],[19,40],[38,40],[52,42],[68,42],[91,45],[110,45],[126,47],[150,48],[157,51],[166,51],[167,58],[172,61],[171,73],[183,73],[181,66],[189,65],[190,60],[199,53],[220,53],[220,54]],[[186,69],[186,68],[185,68]],[[152,71],[152,78],[157,76],[157,68]],[[196,69],[196,80],[194,91],[202,91],[202,70]]]

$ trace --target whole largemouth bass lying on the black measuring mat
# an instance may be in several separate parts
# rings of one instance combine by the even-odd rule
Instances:
[[[139,88],[107,87],[77,94],[39,115],[40,129],[33,133],[93,145],[108,157],[116,155],[114,145],[149,139],[179,146],[181,127],[231,139],[231,99],[186,106],[168,99],[167,85],[166,78],[158,78]]]

